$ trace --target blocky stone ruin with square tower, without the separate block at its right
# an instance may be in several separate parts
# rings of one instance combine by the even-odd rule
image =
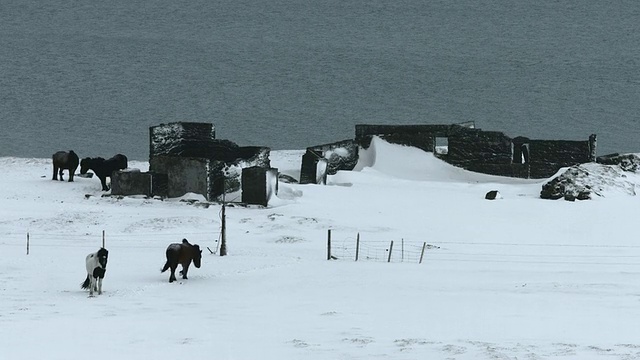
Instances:
[[[123,174],[116,192],[168,197],[193,192],[215,201],[225,192],[240,190],[242,168],[270,168],[269,153],[267,147],[241,147],[229,140],[215,139],[211,123],[152,126],[149,128],[149,172]],[[154,187],[154,180],[161,186]],[[159,184],[158,180],[161,180]]]

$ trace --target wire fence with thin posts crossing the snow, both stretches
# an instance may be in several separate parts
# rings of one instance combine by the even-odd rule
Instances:
[[[341,237],[332,241],[331,230],[329,230],[327,259],[414,264],[476,262],[537,265],[640,265],[640,244],[500,243],[448,240],[427,243],[405,238],[382,240],[383,237],[387,235],[366,234],[366,237],[361,237],[357,234],[355,237]],[[194,232],[11,232],[2,234],[0,246],[23,247],[27,254],[29,251],[37,251],[38,248],[51,247],[95,248],[106,245],[109,249],[157,249],[163,248],[167,243],[180,242],[183,238],[199,243],[212,254],[217,254],[220,250],[219,228]],[[637,270],[634,269],[634,271]]]

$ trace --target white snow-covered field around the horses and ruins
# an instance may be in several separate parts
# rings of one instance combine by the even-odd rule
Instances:
[[[272,165],[298,178],[302,154]],[[640,359],[640,197],[613,188],[541,200],[544,181],[374,141],[327,186],[227,207],[221,257],[217,204],[101,197],[95,177],[52,181],[50,159],[0,167],[3,360]],[[104,293],[89,298],[103,231]],[[170,284],[164,252],[182,238],[203,264]]]

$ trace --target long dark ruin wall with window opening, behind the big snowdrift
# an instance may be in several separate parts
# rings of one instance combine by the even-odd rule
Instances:
[[[529,140],[455,124],[356,125],[360,146],[368,148],[372,136],[433,153],[435,139],[447,138],[447,154],[436,153],[440,159],[470,171],[519,178],[550,177],[562,167],[595,161],[596,154],[595,135],[585,141]]]

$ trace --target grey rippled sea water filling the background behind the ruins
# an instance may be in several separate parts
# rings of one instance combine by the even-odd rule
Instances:
[[[146,160],[174,121],[272,149],[475,121],[640,152],[640,2],[0,0],[0,156]]]

